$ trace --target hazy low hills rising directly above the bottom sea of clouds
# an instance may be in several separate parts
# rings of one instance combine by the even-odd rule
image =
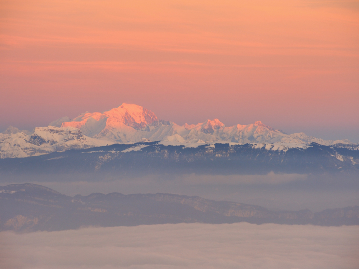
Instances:
[[[359,206],[313,213],[272,211],[236,202],[168,193],[91,193],[74,197],[36,184],[0,186],[0,231],[78,229],[83,225],[136,226],[164,223],[280,223],[358,225]]]

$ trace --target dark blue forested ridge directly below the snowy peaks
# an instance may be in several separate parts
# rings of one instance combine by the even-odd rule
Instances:
[[[159,142],[114,144],[0,159],[0,175],[31,174],[337,174],[359,175],[359,150],[317,143],[301,147],[278,144],[204,144],[197,147]]]

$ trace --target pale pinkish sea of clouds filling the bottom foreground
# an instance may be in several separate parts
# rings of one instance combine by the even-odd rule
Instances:
[[[165,224],[0,233],[1,268],[359,267],[359,227]]]

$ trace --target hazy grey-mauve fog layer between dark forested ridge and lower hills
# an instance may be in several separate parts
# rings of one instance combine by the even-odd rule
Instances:
[[[116,178],[103,175],[53,175],[13,178],[1,185],[31,182],[74,196],[94,192],[123,194],[173,193],[200,196],[259,205],[272,210],[300,210],[313,212],[328,208],[359,205],[359,188],[328,188],[330,178],[314,178],[300,174],[267,175],[172,175]],[[338,181],[341,181],[339,179]],[[357,181],[357,180],[356,180]]]

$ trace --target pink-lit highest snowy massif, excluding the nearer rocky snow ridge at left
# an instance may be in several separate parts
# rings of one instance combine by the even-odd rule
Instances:
[[[142,106],[125,103],[103,113],[87,112],[72,121],[61,122],[61,127],[67,126],[79,128],[89,137],[106,138],[116,143],[135,143],[143,138],[181,143],[350,143],[348,140],[325,141],[304,133],[288,135],[261,121],[227,127],[219,119],[213,119],[180,126],[173,122],[159,121],[152,111]]]

